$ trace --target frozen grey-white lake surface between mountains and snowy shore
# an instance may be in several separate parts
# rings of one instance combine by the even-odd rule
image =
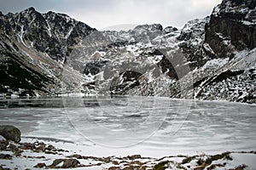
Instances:
[[[2,99],[0,107],[0,124],[19,127],[22,139],[61,141],[90,156],[256,149],[256,105],[123,96]]]

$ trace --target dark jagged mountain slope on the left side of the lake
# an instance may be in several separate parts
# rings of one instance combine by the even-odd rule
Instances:
[[[52,95],[75,83],[61,86],[63,63],[73,45],[95,29],[65,14],[40,14],[34,8],[0,14],[0,23],[1,93]]]

